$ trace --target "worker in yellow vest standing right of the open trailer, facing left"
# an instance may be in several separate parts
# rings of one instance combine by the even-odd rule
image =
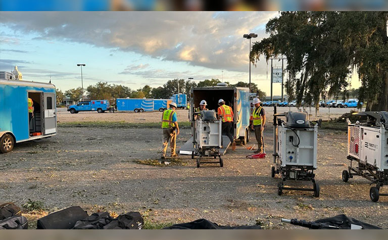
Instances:
[[[258,145],[258,150],[255,151],[255,153],[262,153],[263,152],[263,130],[265,126],[265,111],[264,108],[260,106],[260,99],[255,98],[253,99],[253,104],[255,105],[255,109],[252,112],[252,130],[255,129],[255,135]]]

